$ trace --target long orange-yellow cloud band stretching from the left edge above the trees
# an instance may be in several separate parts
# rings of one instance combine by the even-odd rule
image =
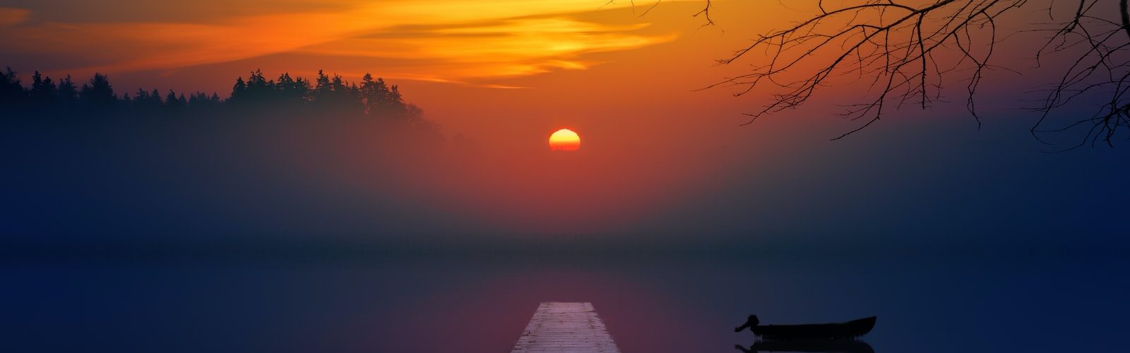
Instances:
[[[77,71],[175,69],[303,53],[411,60],[401,77],[467,80],[556,69],[585,69],[583,54],[631,50],[671,35],[642,34],[645,24],[608,25],[567,14],[601,0],[415,0],[356,3],[330,10],[245,15],[199,23],[24,24],[27,11],[0,9],[0,34],[15,55],[63,57]],[[625,5],[610,5],[621,7]],[[605,7],[607,9],[608,7]],[[415,68],[415,69],[414,69]]]

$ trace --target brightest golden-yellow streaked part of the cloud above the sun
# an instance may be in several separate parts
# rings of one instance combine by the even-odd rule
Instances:
[[[400,28],[297,50],[323,55],[417,60],[434,75],[461,78],[523,76],[555,69],[586,69],[594,52],[631,50],[670,41],[672,35],[635,34],[646,27],[534,17],[458,26]]]

